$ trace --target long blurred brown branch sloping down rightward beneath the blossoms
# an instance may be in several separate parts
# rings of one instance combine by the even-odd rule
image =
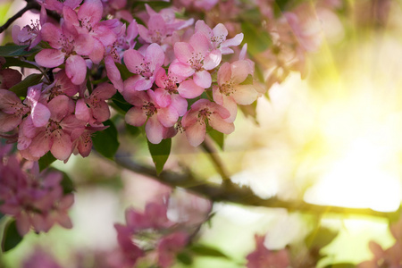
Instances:
[[[163,184],[172,188],[186,188],[189,191],[207,197],[214,202],[230,202],[239,205],[252,205],[264,207],[281,207],[288,211],[298,211],[311,214],[345,214],[345,215],[371,215],[381,218],[394,219],[399,217],[397,212],[379,212],[369,208],[348,208],[334,205],[314,205],[306,203],[302,200],[287,201],[281,200],[278,197],[264,199],[258,197],[255,193],[245,186],[240,187],[237,184],[230,183],[218,185],[205,182],[201,178],[197,178],[189,172],[168,172],[163,171],[159,176],[156,175],[155,168],[135,163],[128,155],[116,155],[115,162],[121,167],[124,167],[132,172],[137,172],[147,177],[159,180]]]

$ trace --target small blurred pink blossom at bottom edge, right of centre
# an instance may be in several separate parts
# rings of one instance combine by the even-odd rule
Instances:
[[[289,253],[287,250],[272,252],[264,246],[264,236],[255,235],[255,251],[247,255],[247,268],[287,268]]]

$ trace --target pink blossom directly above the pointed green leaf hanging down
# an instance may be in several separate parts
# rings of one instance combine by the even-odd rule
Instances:
[[[170,129],[179,119],[176,107],[163,102],[163,90],[124,91],[124,98],[134,105],[125,116],[132,126],[142,126],[146,123],[147,138],[151,143],[158,144],[170,135]]]

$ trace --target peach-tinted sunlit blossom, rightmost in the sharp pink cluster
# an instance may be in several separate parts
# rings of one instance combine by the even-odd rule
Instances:
[[[214,101],[230,112],[227,121],[234,121],[239,105],[251,105],[264,93],[264,88],[253,83],[241,85],[248,75],[253,73],[250,63],[246,60],[234,63],[223,63],[218,71],[218,86],[213,87]]]

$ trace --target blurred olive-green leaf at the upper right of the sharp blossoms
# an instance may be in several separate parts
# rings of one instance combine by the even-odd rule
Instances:
[[[249,21],[241,22],[241,30],[245,33],[243,42],[247,43],[247,51],[251,55],[264,52],[272,45],[272,39],[268,32],[259,29]]]

